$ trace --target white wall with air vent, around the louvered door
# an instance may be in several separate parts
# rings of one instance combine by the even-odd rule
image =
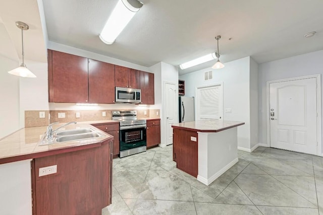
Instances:
[[[238,147],[250,149],[249,68],[250,57],[226,62],[222,69],[206,68],[180,76],[185,81],[185,96],[195,97],[196,87],[223,82],[224,120],[245,122],[238,127]],[[204,72],[213,70],[213,79],[204,81]]]

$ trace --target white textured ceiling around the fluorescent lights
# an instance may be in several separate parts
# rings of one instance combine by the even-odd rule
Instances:
[[[14,4],[16,1],[5,2]],[[34,5],[36,0],[25,2]],[[143,66],[160,61],[179,65],[214,52],[217,35],[222,35],[220,59],[224,63],[246,56],[262,63],[323,49],[321,0],[141,2],[144,6],[115,43],[106,45],[98,34],[117,0],[43,0],[48,38]],[[10,12],[6,7],[0,9],[0,17],[8,28],[9,15],[6,20],[2,16],[6,11]],[[22,14],[33,15],[22,9],[15,13],[18,18]],[[34,16],[40,19],[39,14]],[[317,31],[317,34],[312,38],[303,37],[311,31]],[[38,43],[34,45],[38,48]],[[180,74],[188,73],[210,67],[214,62],[179,71]]]

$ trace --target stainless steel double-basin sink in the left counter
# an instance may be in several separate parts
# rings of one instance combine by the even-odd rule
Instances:
[[[49,145],[59,142],[68,142],[68,141],[77,141],[84,140],[95,137],[102,137],[103,135],[95,131],[93,128],[80,128],[80,129],[71,129],[71,130],[58,130],[53,132],[53,138],[48,140],[46,138],[46,133],[39,141],[39,145]]]

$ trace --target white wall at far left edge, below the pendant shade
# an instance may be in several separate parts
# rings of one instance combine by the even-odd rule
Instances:
[[[19,129],[19,77],[8,73],[18,66],[18,59],[0,55],[0,138]]]

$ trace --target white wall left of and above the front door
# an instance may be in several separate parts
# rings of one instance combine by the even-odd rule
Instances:
[[[323,50],[259,64],[259,141],[262,144],[267,144],[266,82],[316,74],[323,75]]]

